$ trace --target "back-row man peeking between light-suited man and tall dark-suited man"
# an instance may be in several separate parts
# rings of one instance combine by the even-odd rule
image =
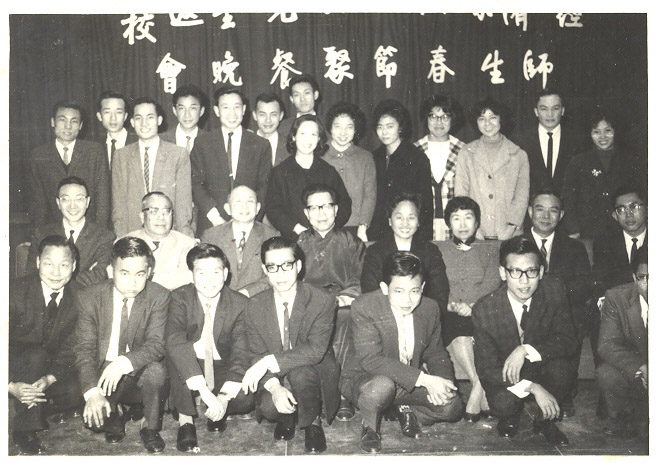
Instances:
[[[176,89],[171,101],[178,123],[160,136],[169,143],[185,148],[189,154],[199,135],[199,119],[206,112],[208,98],[199,87],[190,84]]]

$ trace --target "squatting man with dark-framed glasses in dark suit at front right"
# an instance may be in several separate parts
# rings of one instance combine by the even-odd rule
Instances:
[[[501,245],[499,271],[506,284],[476,302],[472,315],[475,368],[499,418],[498,434],[516,435],[528,402],[534,429],[551,445],[568,445],[554,424],[577,346],[566,289],[544,275],[541,252],[524,236]]]

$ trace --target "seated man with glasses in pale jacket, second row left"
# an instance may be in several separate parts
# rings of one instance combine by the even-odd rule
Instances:
[[[139,213],[142,228],[128,233],[143,239],[155,258],[152,281],[170,291],[192,282],[192,272],[187,267],[187,253],[196,244],[181,232],[172,230],[173,204],[161,191],[152,191],[142,198]]]

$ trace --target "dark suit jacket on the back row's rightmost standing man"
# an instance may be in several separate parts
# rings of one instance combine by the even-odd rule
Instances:
[[[559,149],[557,153],[555,150],[553,151],[553,156],[557,154],[557,161],[552,178],[548,175],[548,169],[546,169],[541,145],[539,144],[538,126],[534,126],[530,130],[523,132],[519,137],[518,145],[525,150],[528,155],[528,164],[530,165],[531,198],[534,194],[545,188],[550,188],[560,194],[569,161],[581,150],[578,136],[569,126],[561,124],[560,131]]]

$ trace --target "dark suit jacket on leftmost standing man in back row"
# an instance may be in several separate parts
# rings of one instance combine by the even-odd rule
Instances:
[[[68,169],[57,151],[55,141],[37,146],[25,166],[28,212],[34,228],[62,220],[57,208],[57,185],[71,175],[87,184],[91,200],[87,218],[101,226],[110,223],[110,174],[103,147],[92,141],[75,142]]]

